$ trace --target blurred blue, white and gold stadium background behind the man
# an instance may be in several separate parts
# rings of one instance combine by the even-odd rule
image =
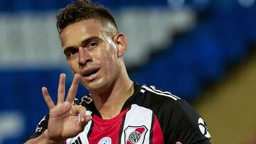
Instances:
[[[58,9],[70,2],[0,0],[0,144],[23,143],[48,113],[41,87],[55,97],[61,72],[70,86],[55,28]],[[256,143],[255,0],[97,2],[128,37],[124,59],[134,81],[186,99],[212,143]]]

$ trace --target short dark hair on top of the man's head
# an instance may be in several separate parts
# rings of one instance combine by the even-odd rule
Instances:
[[[93,3],[90,0],[79,0],[69,4],[65,8],[60,9],[56,18],[59,34],[71,23],[87,20],[90,18],[95,18],[97,20],[105,19],[110,21],[110,23],[112,23],[113,26],[117,28],[117,24],[114,21],[110,11],[108,11],[104,6]]]

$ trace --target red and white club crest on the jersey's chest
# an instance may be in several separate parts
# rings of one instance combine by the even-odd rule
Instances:
[[[147,128],[146,126],[128,126],[124,130],[125,144],[142,144],[145,139]]]

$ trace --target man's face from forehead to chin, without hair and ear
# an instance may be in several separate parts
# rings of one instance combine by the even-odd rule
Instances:
[[[109,87],[121,70],[115,36],[101,25],[95,19],[84,20],[67,26],[60,34],[70,68],[80,74],[80,82],[90,91]]]

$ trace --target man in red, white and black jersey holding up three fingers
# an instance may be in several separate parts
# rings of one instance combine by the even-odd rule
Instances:
[[[57,27],[74,79],[65,99],[60,74],[57,105],[42,88],[50,114],[26,143],[210,143],[186,101],[129,79],[122,58],[127,38],[105,8],[76,1],[60,10]],[[90,92],[80,101],[79,82]]]

